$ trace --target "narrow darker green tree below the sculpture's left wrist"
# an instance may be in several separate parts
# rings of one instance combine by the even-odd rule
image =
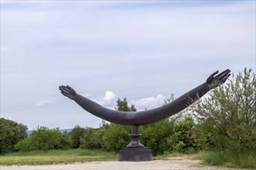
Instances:
[[[74,128],[70,132],[73,148],[79,148],[80,138],[82,137],[83,134],[85,134],[85,132],[86,132],[85,128],[81,128],[81,126],[79,125],[74,126]]]

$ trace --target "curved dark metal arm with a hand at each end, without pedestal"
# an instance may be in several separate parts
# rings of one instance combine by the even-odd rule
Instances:
[[[154,122],[161,121],[166,117],[170,117],[173,114],[177,114],[179,111],[185,109],[185,107],[188,107],[190,104],[195,102],[196,99],[202,97],[209,90],[218,87],[222,83],[225,83],[227,78],[230,76],[230,70],[225,70],[219,74],[217,73],[219,73],[219,71],[211,74],[205,83],[202,83],[198,87],[195,87],[189,92],[183,94],[170,104],[166,104],[152,110],[137,112],[110,110],[96,104],[94,101],[89,100],[86,97],[81,96],[69,86],[61,86],[59,89],[65,97],[74,100],[82,108],[87,110],[89,113],[94,114],[96,117],[101,117],[106,121],[116,124],[138,126],[141,124],[152,124]]]

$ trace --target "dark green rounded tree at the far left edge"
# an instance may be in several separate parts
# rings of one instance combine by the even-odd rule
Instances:
[[[14,145],[26,138],[27,127],[16,121],[0,118],[0,154],[14,151]]]

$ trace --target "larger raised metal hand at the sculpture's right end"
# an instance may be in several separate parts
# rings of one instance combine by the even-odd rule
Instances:
[[[230,76],[230,70],[229,69],[227,69],[227,70],[219,73],[218,75],[216,75],[217,73],[219,73],[219,71],[214,72],[206,80],[206,83],[208,84],[209,89],[213,89],[215,87],[220,86],[220,84],[225,83],[227,78]]]

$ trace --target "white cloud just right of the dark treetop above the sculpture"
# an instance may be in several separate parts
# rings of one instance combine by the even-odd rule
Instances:
[[[156,97],[145,97],[140,100],[133,100],[137,110],[152,109],[154,107],[160,107],[164,103],[164,96],[158,94]]]

